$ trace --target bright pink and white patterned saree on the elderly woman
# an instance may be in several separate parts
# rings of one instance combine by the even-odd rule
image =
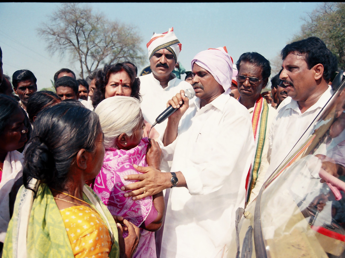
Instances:
[[[140,226],[149,215],[153,206],[152,196],[133,201],[125,197],[121,187],[132,183],[124,180],[124,176],[138,174],[133,164],[147,166],[147,138],[141,139],[139,145],[130,150],[106,149],[103,166],[96,176],[93,190],[107,205],[112,215],[122,216],[136,226]],[[155,233],[140,228],[141,237],[133,257],[156,257]],[[128,232],[124,232],[126,237]]]

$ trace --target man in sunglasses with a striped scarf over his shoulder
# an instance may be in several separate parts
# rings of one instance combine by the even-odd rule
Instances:
[[[246,179],[246,203],[254,200],[264,183],[264,174],[269,166],[267,160],[268,133],[277,111],[261,96],[271,74],[269,61],[256,52],[243,53],[236,67],[239,103],[252,115],[256,150]]]

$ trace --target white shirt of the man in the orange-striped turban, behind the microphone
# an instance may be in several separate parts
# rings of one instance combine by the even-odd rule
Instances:
[[[169,99],[179,93],[181,89],[185,90],[190,87],[189,83],[175,77],[170,80],[168,86],[163,89],[159,80],[153,77],[152,73],[140,76],[139,79],[140,94],[142,97],[140,104],[142,115],[151,125],[156,121],[160,113],[167,108]],[[154,127],[161,138],[164,135],[167,122],[168,119]]]

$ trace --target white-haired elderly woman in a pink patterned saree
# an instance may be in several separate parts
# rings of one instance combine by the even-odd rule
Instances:
[[[125,197],[121,187],[126,176],[140,174],[134,168],[153,166],[159,169],[161,150],[153,139],[142,138],[145,128],[139,100],[114,96],[102,100],[95,109],[104,133],[106,148],[103,166],[96,176],[93,190],[112,215],[124,217],[140,227],[141,238],[133,257],[156,257],[155,234],[162,225],[164,198],[162,192],[142,200]],[[145,187],[142,191],[146,192]],[[124,237],[127,236],[124,232]]]

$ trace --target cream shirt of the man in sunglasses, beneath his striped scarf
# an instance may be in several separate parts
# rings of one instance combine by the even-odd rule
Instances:
[[[253,114],[254,114],[254,107],[248,109],[250,115],[252,115],[253,119]],[[272,122],[275,119],[277,115],[277,110],[272,107],[271,105],[268,105],[268,117],[267,117],[267,123],[266,123],[266,135],[265,135],[265,143],[264,143],[264,148],[262,151],[262,156],[261,156],[261,163],[260,163],[260,168],[259,168],[259,174],[258,178],[256,180],[255,186],[250,193],[250,199],[249,202],[253,201],[254,198],[258,195],[261,186],[265,182],[265,173],[268,169],[269,166],[269,158],[267,155],[268,152],[268,146],[269,146],[269,129],[271,128]],[[256,151],[256,150],[255,150]]]

